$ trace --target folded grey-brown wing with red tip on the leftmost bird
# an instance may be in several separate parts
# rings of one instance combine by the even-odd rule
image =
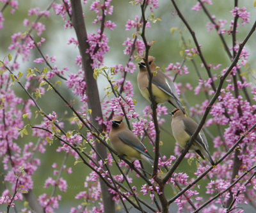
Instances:
[[[143,143],[141,143],[140,140],[131,131],[121,131],[120,133],[118,133],[118,137],[125,144],[129,145],[136,151],[152,159],[150,154],[148,154],[145,145],[143,145]]]

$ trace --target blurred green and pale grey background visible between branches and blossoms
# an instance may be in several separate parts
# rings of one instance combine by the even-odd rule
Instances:
[[[56,3],[61,2],[62,1],[56,1]],[[198,42],[200,43],[200,45],[202,45],[202,52],[207,63],[221,63],[223,64],[221,66],[221,69],[226,68],[230,64],[230,59],[228,59],[227,54],[223,49],[223,45],[220,42],[218,34],[216,34],[215,30],[212,30],[211,33],[207,33],[205,25],[207,24],[207,22],[209,22],[209,20],[207,19],[203,11],[196,12],[191,10],[192,6],[195,5],[196,2],[197,1],[183,0],[177,1],[177,5],[184,14],[186,20],[188,20],[189,25],[192,27],[193,31],[195,31]],[[8,46],[11,43],[12,34],[18,32],[24,33],[25,31],[28,31],[28,28],[24,27],[22,23],[24,18],[28,18],[31,22],[35,20],[35,16],[28,17],[29,8],[39,7],[40,11],[42,11],[45,10],[45,8],[47,8],[50,3],[51,1],[26,1],[26,3],[24,3],[24,1],[19,1],[19,10],[15,11],[13,15],[10,14],[10,8],[6,8],[6,10],[4,10],[4,27],[0,33],[1,60],[3,60],[7,54],[15,54],[14,51],[8,50]],[[89,10],[91,3],[92,1],[88,0],[88,3],[83,5],[83,7],[87,32],[95,33],[97,28],[99,28],[99,24],[92,24],[92,21],[95,18],[95,13]],[[138,15],[139,17],[141,16],[140,6],[132,6],[129,1],[120,0],[113,0],[111,4],[114,5],[114,12],[113,15],[108,15],[106,19],[115,22],[116,28],[114,31],[109,31],[108,29],[105,30],[105,33],[109,38],[109,52],[106,54],[104,65],[111,67],[115,66],[116,64],[123,64],[125,66],[128,60],[128,56],[123,54],[125,47],[122,45],[122,43],[126,40],[127,37],[132,38],[132,33],[135,33],[134,29],[131,29],[130,31],[125,31],[125,24],[128,19],[134,20],[135,15]],[[3,4],[1,3],[0,8],[2,7],[2,5]],[[216,16],[217,20],[227,20],[226,29],[228,29],[230,20],[233,19],[232,15],[229,12],[230,10],[232,10],[232,8],[234,8],[233,5],[234,1],[215,0],[213,1],[213,5],[207,6],[207,8],[209,9],[211,15]],[[243,6],[248,8],[248,11],[250,11],[251,15],[250,20],[251,22],[254,22],[256,18],[256,13],[255,8],[253,8],[253,1],[243,1],[239,3],[239,7]],[[161,68],[167,67],[170,62],[173,62],[173,64],[175,64],[176,62],[182,62],[182,57],[179,54],[179,52],[182,50],[180,35],[177,32],[171,34],[170,28],[179,27],[179,29],[184,34],[184,38],[186,39],[187,44],[190,45],[190,48],[195,47],[194,42],[193,40],[191,40],[191,36],[188,33],[188,30],[184,27],[184,24],[181,22],[180,18],[177,15],[172,15],[173,11],[174,8],[171,1],[159,1],[159,8],[157,10],[154,10],[154,16],[157,18],[161,18],[161,22],[156,22],[156,24],[150,23],[151,28],[146,29],[147,40],[156,41],[153,47],[150,48],[150,55],[154,55],[154,57],[156,57],[156,64]],[[65,66],[68,66],[70,70],[65,73],[65,77],[67,77],[68,73],[76,73],[79,70],[78,66],[75,64],[75,59],[77,55],[79,55],[78,48],[75,48],[74,45],[66,45],[69,38],[76,38],[76,34],[74,33],[74,29],[64,29],[64,22],[62,18],[60,16],[56,16],[52,9],[50,10],[50,13],[50,18],[43,17],[40,19],[40,22],[42,22],[42,24],[44,24],[47,29],[42,34],[42,37],[44,37],[46,41],[42,45],[41,50],[44,54],[49,54],[49,56],[56,57],[55,65],[58,66],[58,68],[62,69]],[[148,8],[146,13],[147,17],[150,17],[150,13],[151,12]],[[244,36],[246,36],[251,26],[252,23],[246,24],[244,27],[239,27],[239,33],[237,33],[237,41],[243,41]],[[40,38],[36,36],[35,32],[33,32],[33,34],[35,35],[35,41],[40,41]],[[232,39],[228,37],[227,34],[224,35],[224,38],[226,39],[228,45],[231,45]],[[256,65],[256,62],[254,60],[256,51],[255,38],[256,37],[254,34],[246,45],[246,49],[250,53],[250,58],[248,59],[249,68],[255,68]],[[26,81],[25,76],[27,68],[44,68],[44,66],[38,66],[38,64],[35,64],[33,62],[33,60],[38,57],[40,57],[40,55],[38,54],[37,50],[33,50],[29,61],[24,62],[20,65],[19,71],[24,72],[25,74],[24,77],[22,77],[23,83]],[[19,59],[18,61],[21,62],[21,59]],[[195,57],[195,62],[200,70],[200,74],[202,75],[202,77],[204,79],[207,79],[206,71],[204,70],[204,68],[200,68],[201,61],[199,57]],[[189,68],[189,75],[178,76],[176,82],[181,82],[183,85],[186,82],[189,82],[189,84],[195,87],[196,85],[198,85],[198,77],[195,73],[195,68],[190,61],[186,61],[185,65]],[[250,73],[250,69],[248,68],[242,68],[241,70],[243,73]],[[219,74],[220,71],[212,70],[212,73]],[[127,80],[131,80],[134,85],[134,99],[137,100],[136,112],[143,115],[142,110],[149,103],[144,98],[142,98],[140,92],[138,91],[136,76],[137,72],[129,74],[127,75]],[[119,77],[116,77],[116,79],[118,78]],[[250,75],[250,82],[255,84],[252,75]],[[108,82],[106,81],[106,79],[99,77],[98,85],[100,91],[100,98],[103,99],[105,96],[103,89],[108,85]],[[28,99],[28,96],[26,96],[26,94],[20,89],[18,85],[15,85],[14,87],[17,96]],[[75,98],[67,88],[65,88],[64,82],[61,86],[61,94],[63,94],[67,100],[76,99],[77,104],[75,106],[77,109],[79,109],[79,100]],[[195,106],[196,104],[200,105],[205,100],[204,95],[194,96],[193,94],[193,91],[186,92],[185,94],[191,106]],[[51,113],[52,111],[57,112],[58,119],[65,122],[65,129],[72,130],[72,126],[70,126],[70,124],[68,123],[68,118],[72,116],[72,113],[70,112],[70,110],[68,110],[67,106],[63,104],[61,99],[58,98],[58,96],[54,92],[47,92],[45,96],[42,97],[42,99],[38,100],[38,103],[47,114]],[[169,111],[172,110],[170,105],[166,105],[166,107],[168,107]],[[169,117],[169,115],[166,115],[165,119],[166,123],[164,124],[164,128],[171,131],[171,118]],[[31,122],[33,124],[36,124],[40,122],[40,119],[32,119]],[[214,127],[209,128],[209,131],[211,131],[212,135],[214,136],[218,135],[216,128]],[[23,147],[24,143],[28,143],[30,141],[36,143],[37,139],[31,136],[24,136],[23,138],[19,138],[19,141],[17,141],[17,143],[20,145],[20,147]],[[165,156],[170,156],[170,154],[173,154],[173,149],[175,145],[173,137],[168,135],[164,131],[161,131],[161,141],[163,142],[163,146],[161,146],[161,154]],[[60,143],[55,140],[51,146],[48,145],[46,147],[46,154],[42,155],[40,153],[36,153],[36,158],[40,158],[41,160],[41,166],[38,168],[35,175],[33,176],[35,186],[34,191],[36,195],[41,195],[42,193],[47,193],[48,195],[51,195],[52,187],[44,189],[44,181],[45,179],[47,179],[47,177],[53,177],[52,172],[54,169],[51,167],[52,163],[56,162],[58,164],[58,169],[61,166],[65,154],[63,152],[56,152],[56,147],[58,147],[59,145]],[[145,142],[145,145],[149,147],[148,141]],[[212,148],[212,143],[210,139],[209,145],[210,148]],[[151,151],[152,149],[149,150]],[[67,193],[61,193],[59,190],[57,190],[56,195],[60,194],[62,196],[61,203],[65,203],[65,207],[67,207],[67,209],[69,210],[71,206],[76,206],[78,203],[81,203],[81,200],[74,199],[74,196],[76,196],[79,191],[83,191],[84,179],[86,175],[88,175],[88,173],[90,173],[91,171],[88,170],[88,168],[86,168],[86,166],[84,166],[82,163],[78,163],[76,166],[74,166],[74,158],[72,156],[69,156],[67,159],[67,168],[68,167],[72,167],[72,175],[67,175],[67,173],[65,172],[62,175],[63,179],[66,179],[68,182]],[[146,163],[145,167],[147,168],[147,170],[151,170],[151,168],[149,168]],[[0,172],[6,173],[6,171],[3,171],[2,165],[0,166]],[[177,169],[177,172],[188,173],[189,176],[193,177],[194,173],[196,172],[195,161],[193,161],[192,166],[188,165],[187,160],[182,161],[181,165]],[[113,173],[117,174],[118,171],[115,170]],[[136,183],[136,186],[138,187],[138,189],[140,189],[141,184],[144,184],[144,182],[136,178],[134,175],[131,176],[134,177],[134,183]],[[56,179],[56,177],[53,178]],[[1,179],[3,179],[3,176],[1,177]],[[199,182],[199,184],[201,187],[198,190],[200,190],[200,192],[204,192],[205,181],[202,180]],[[0,186],[0,188],[1,193],[3,187]],[[167,190],[166,194],[167,196],[171,196],[173,195],[173,191],[171,189]],[[0,207],[0,210],[2,210],[1,208],[2,207]],[[68,211],[67,209],[65,210],[65,212]]]

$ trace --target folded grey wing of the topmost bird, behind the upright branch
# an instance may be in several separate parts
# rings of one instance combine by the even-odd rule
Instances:
[[[166,75],[164,75],[161,70],[157,71],[156,76],[152,78],[152,83],[155,84],[162,91],[166,92],[166,94],[168,94],[172,98],[178,99],[177,92],[172,80],[166,77]]]

